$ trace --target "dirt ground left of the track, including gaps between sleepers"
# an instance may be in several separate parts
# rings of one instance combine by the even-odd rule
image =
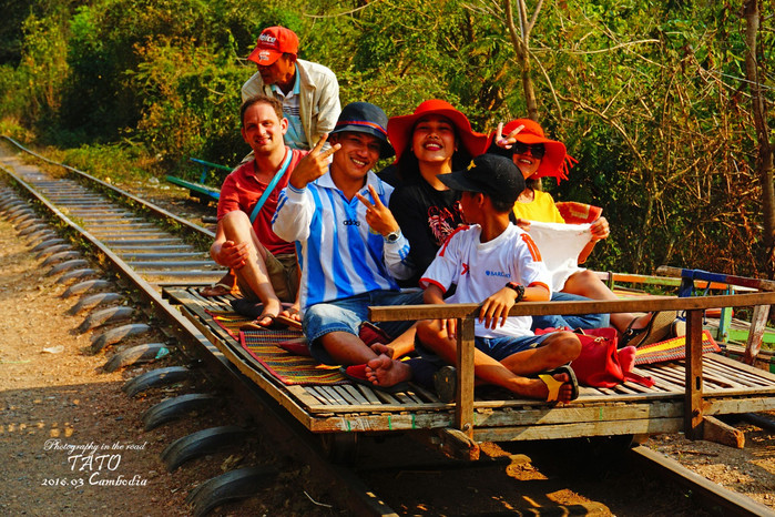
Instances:
[[[104,328],[78,332],[89,311],[68,314],[79,296],[61,297],[69,284],[48,276],[51,265],[41,266],[43,260],[0,217],[0,515],[192,515],[186,496],[193,488],[256,464],[272,465],[279,476],[247,504],[225,505],[214,515],[336,514],[318,511],[310,499],[319,484],[305,477],[308,469],[277,457],[258,436],[169,473],[161,454],[174,439],[220,425],[249,428],[251,420],[224,405],[144,430],[142,415],[163,399],[217,391],[200,378],[129,397],[121,389],[126,379],[176,364],[175,354],[123,372],[106,373],[103,365],[120,349],[165,337],[125,338],[92,355],[91,339]]]

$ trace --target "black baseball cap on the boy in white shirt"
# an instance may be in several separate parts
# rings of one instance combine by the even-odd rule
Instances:
[[[450,189],[481,192],[508,203],[517,202],[524,190],[524,178],[514,162],[496,154],[480,154],[466,169],[437,178]]]

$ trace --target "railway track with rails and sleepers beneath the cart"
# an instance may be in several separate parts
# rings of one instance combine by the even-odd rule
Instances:
[[[419,511],[421,504],[408,505],[401,500],[400,494],[395,494],[397,490],[395,477],[425,476],[427,473],[436,473],[441,476],[438,477],[439,485],[445,485],[447,478],[451,479],[460,475],[459,473],[463,473],[461,475],[463,478],[466,476],[477,478],[481,477],[477,473],[490,472],[488,469],[501,472],[510,466],[522,465],[519,458],[514,459],[514,455],[501,455],[478,464],[461,465],[432,457],[418,460],[420,453],[412,454],[411,460],[401,458],[388,464],[384,458],[379,458],[380,454],[392,455],[390,450],[395,448],[406,450],[412,447],[401,442],[405,440],[404,437],[392,436],[386,438],[386,444],[370,444],[365,454],[375,455],[375,458],[367,459],[365,464],[358,464],[355,469],[330,463],[317,437],[298,425],[287,412],[244,377],[187,318],[180,314],[177,308],[162,298],[161,286],[210,283],[222,276],[223,271],[203,251],[213,239],[212,232],[81,171],[50,162],[23,149],[17,142],[10,142],[39,160],[62,168],[68,173],[67,178],[58,178],[41,172],[37,166],[24,165],[18,159],[3,159],[2,173],[9,183],[14,184],[16,192],[6,191],[0,194],[0,209],[4,211],[7,217],[13,219],[18,231],[26,237],[32,239],[35,246],[42,246],[39,252],[43,250],[49,256],[57,257],[51,262],[54,264],[52,268],[59,268],[55,273],[72,283],[70,288],[73,290],[73,294],[82,295],[81,308],[93,308],[91,316],[84,321],[83,330],[103,325],[112,326],[95,336],[92,342],[93,352],[108,351],[126,335],[142,334],[150,326],[145,323],[126,323],[131,318],[126,307],[103,308],[105,304],[110,304],[111,297],[105,296],[105,293],[98,293],[100,287],[104,287],[99,284],[101,280],[95,278],[101,272],[91,267],[91,264],[101,264],[105,270],[102,274],[109,273],[119,278],[123,288],[135,298],[137,306],[146,312],[150,321],[161,326],[170,336],[170,344],[162,344],[161,347],[179,354],[182,365],[188,365],[192,362],[202,364],[204,367],[201,369],[206,372],[213,383],[228,386],[239,404],[256,415],[255,419],[262,423],[262,432],[276,437],[278,447],[282,444],[287,447],[292,442],[293,446],[287,447],[286,454],[309,464],[316,472],[316,476],[330,479],[338,487],[340,495],[338,504],[354,515]],[[52,224],[49,221],[54,221],[53,225],[60,227],[59,233],[50,230]],[[83,250],[72,250],[67,242],[59,242],[61,235],[70,235],[73,240],[84,243]],[[88,256],[89,260],[83,256]],[[94,294],[89,294],[92,291]],[[118,293],[113,294],[121,296]],[[160,347],[142,346],[144,346],[142,349],[129,349],[129,352],[122,351],[120,354],[114,354],[108,363],[113,362],[113,367],[120,368],[135,362],[147,361],[154,354],[160,354]],[[185,375],[191,375],[191,368],[186,366],[152,371],[143,375],[143,378],[130,381],[125,391],[136,393],[151,389],[176,376]],[[154,425],[162,425],[166,422],[165,419],[184,414],[186,408],[204,404],[207,396],[200,395],[176,397],[177,399],[166,403],[164,407],[151,408],[150,415],[146,413],[144,417]],[[294,440],[287,439],[289,432],[295,434]],[[176,467],[218,445],[238,439],[244,433],[245,429],[228,425],[203,429],[195,434],[196,436],[192,435],[183,438],[183,442],[177,440],[172,444],[174,447],[169,448],[170,452],[163,459],[167,466]],[[621,447],[618,453],[623,450],[624,447]],[[611,450],[606,454],[609,453]],[[629,462],[624,472],[631,470],[631,466],[636,465],[639,469],[653,473],[650,476],[679,483],[684,488],[676,493],[679,494],[676,497],[680,498],[681,494],[692,494],[695,496],[693,499],[695,505],[711,508],[711,510],[722,508],[724,514],[733,515],[769,513],[766,507],[706,481],[675,462],[644,447],[635,447],[622,456],[628,456]],[[395,456],[391,458],[395,459]],[[269,467],[265,465],[245,467],[203,483],[202,488],[190,497],[194,513],[204,515],[226,500],[248,496],[252,493],[251,487],[255,488],[258,484],[265,483],[264,479],[272,477]],[[390,474],[387,474],[386,478],[386,473],[392,473],[395,477],[389,478]],[[367,487],[364,479],[368,479],[366,483],[370,486]],[[638,477],[630,481],[621,478],[620,481],[642,483]],[[432,480],[422,483],[434,485]],[[443,487],[439,488],[443,494]],[[380,494],[383,497],[375,494]],[[421,496],[418,497],[421,499]],[[428,497],[428,500],[434,500],[434,497]],[[386,501],[392,501],[392,504]],[[681,503],[684,508],[685,501]],[[606,509],[604,503],[577,506],[569,510],[564,505],[552,506],[551,501],[543,501],[538,505],[537,513],[558,511],[558,508],[564,508],[561,511],[571,514],[604,513]],[[482,507],[492,508],[492,505]],[[499,513],[504,515],[522,513],[514,504],[496,506],[498,507],[501,508]],[[533,505],[533,507],[537,506]],[[456,515],[482,513],[476,508],[476,496],[473,496],[473,504],[470,507],[450,508],[441,513]],[[436,514],[432,507],[426,509],[428,514]],[[493,511],[487,510],[487,514],[492,515]]]

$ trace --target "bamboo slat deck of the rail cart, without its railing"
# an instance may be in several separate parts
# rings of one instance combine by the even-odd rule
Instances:
[[[406,432],[455,427],[455,404],[412,385],[389,395],[361,385],[288,386],[278,382],[205,310],[231,310],[227,297],[205,298],[196,288],[165,287],[165,297],[181,304],[186,316],[243,374],[248,376],[302,424],[315,433]],[[683,298],[686,300],[686,298]],[[703,366],[704,415],[775,409],[775,375],[718,354]],[[656,381],[653,387],[626,383],[611,389],[581,387],[565,406],[479,388],[473,401],[476,440],[544,439],[641,433],[673,433],[684,428],[684,362],[636,368]]]

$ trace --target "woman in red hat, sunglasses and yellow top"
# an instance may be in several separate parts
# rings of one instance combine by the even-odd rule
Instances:
[[[518,224],[529,231],[530,221],[564,223],[552,196],[537,186],[544,176],[557,178],[558,182],[568,179],[568,172],[575,160],[567,154],[565,145],[545,138],[543,129],[530,119],[517,119],[506,126],[499,124],[498,130],[491,134],[491,139],[490,152],[511,156],[526,179],[527,187],[514,203],[513,212]],[[609,224],[605,217],[599,216],[593,221],[590,232],[592,239],[579,254],[579,264],[587,260],[598,241],[609,236]],[[598,275],[583,268],[573,272],[565,280],[560,293],[552,294],[552,300],[571,300],[564,297],[563,293],[592,300],[618,300],[618,296]],[[591,321],[594,321],[594,315]],[[669,337],[675,313],[666,311],[649,313],[640,317],[630,313],[612,313],[610,321],[611,325],[622,333],[620,346],[639,346]],[[540,320],[538,323],[540,324]]]

